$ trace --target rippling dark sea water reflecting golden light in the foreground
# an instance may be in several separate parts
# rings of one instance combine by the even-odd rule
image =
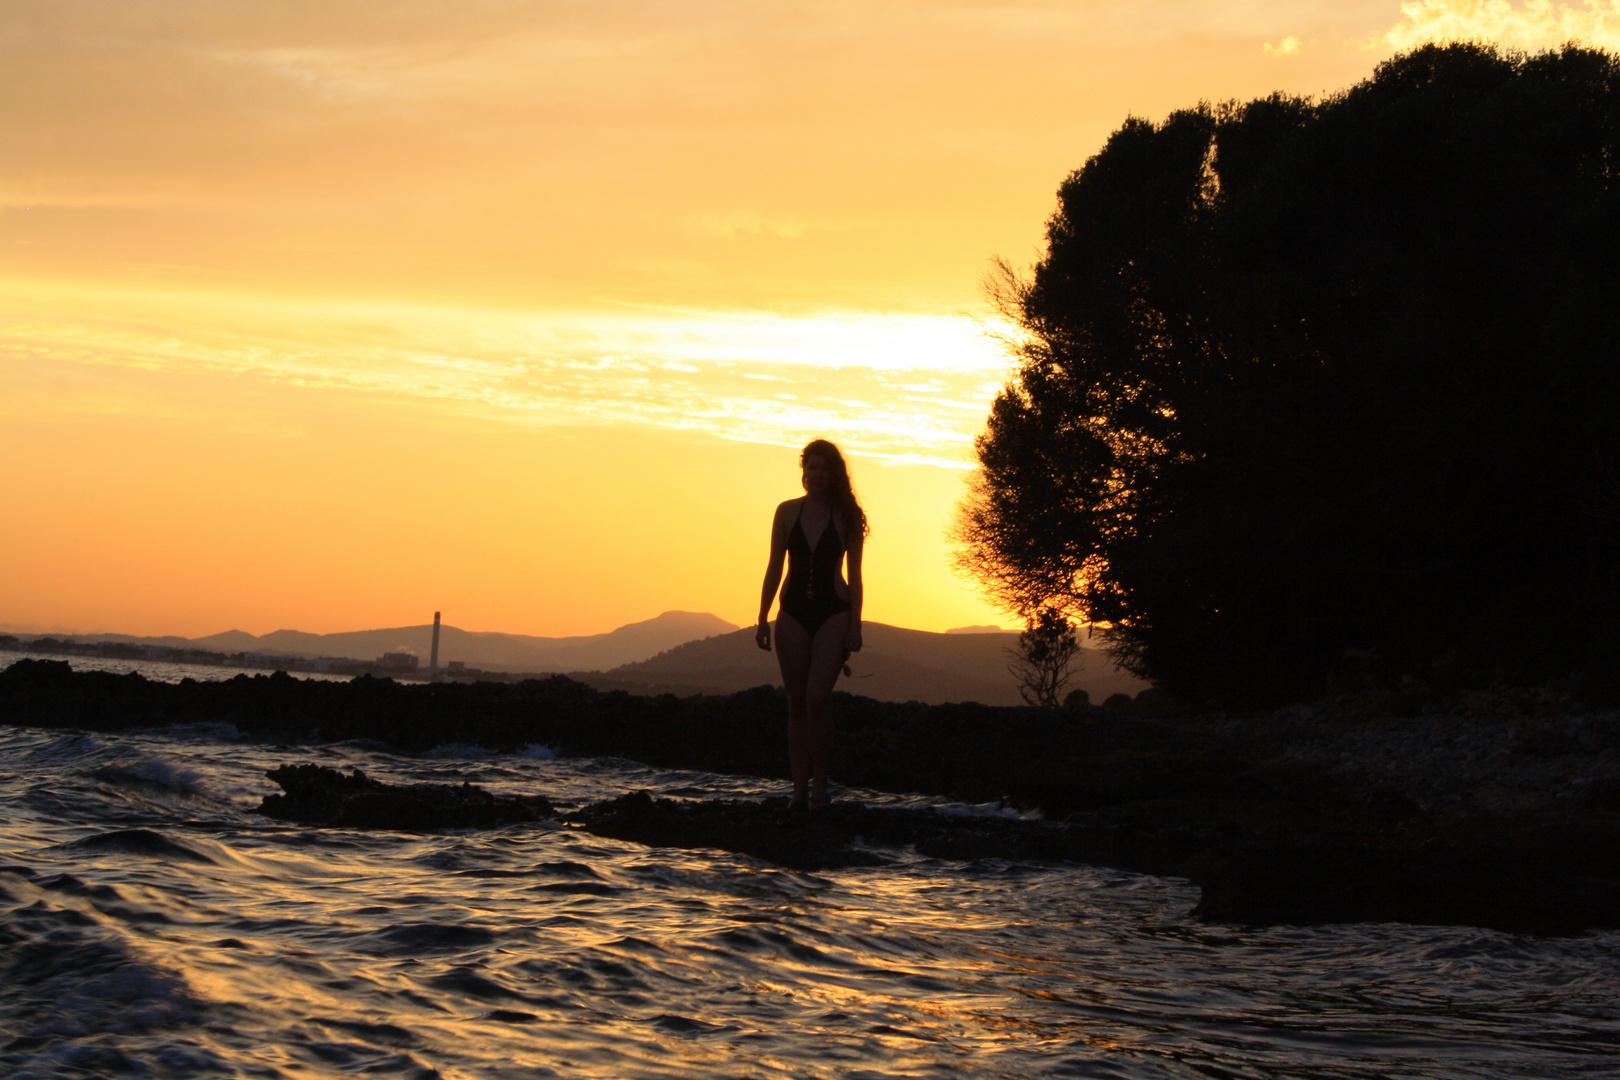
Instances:
[[[886,850],[799,874],[251,813],[264,769],[303,761],[562,810],[776,793],[541,748],[0,729],[0,1074],[1617,1075],[1620,934],[1241,929],[1189,920],[1186,882],[1092,866]]]

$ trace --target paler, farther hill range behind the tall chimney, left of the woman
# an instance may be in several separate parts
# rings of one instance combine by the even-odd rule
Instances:
[[[535,638],[522,633],[492,633],[439,627],[439,665],[462,661],[492,672],[572,672],[606,670],[642,661],[682,641],[735,630],[737,623],[700,612],[664,612],[608,633],[573,638]],[[254,636],[241,630],[206,638],[131,638],[128,635],[83,635],[87,641],[130,641],[215,653],[272,653],[284,656],[343,656],[374,661],[384,653],[415,653],[423,664],[433,653],[433,623],[345,633],[303,633],[277,630]]]

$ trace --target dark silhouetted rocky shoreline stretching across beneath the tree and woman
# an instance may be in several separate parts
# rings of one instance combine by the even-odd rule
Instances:
[[[285,675],[156,683],[50,661],[0,672],[0,722],[18,725],[230,724],[262,740],[373,738],[416,753],[452,742],[497,751],[543,743],[575,756],[763,777],[782,774],[784,708],[768,687],[638,698],[561,677],[471,687]],[[1620,926],[1620,714],[1583,712],[1545,691],[1474,695],[1443,714],[1398,711],[1374,693],[1264,714],[1158,719],[839,695],[834,776],[842,782],[1004,800],[1043,819],[855,805],[789,814],[779,800],[625,793],[582,808],[572,824],[802,870],[873,858],[868,844],[940,858],[1100,863],[1189,878],[1209,921],[1409,921],[1539,934]],[[476,789],[439,795],[457,792],[457,813],[481,805]],[[410,821],[420,824],[407,827],[452,826],[436,826],[429,810],[431,800],[418,800]],[[497,808],[492,821],[543,816],[533,803]],[[360,818],[343,821],[366,827]]]

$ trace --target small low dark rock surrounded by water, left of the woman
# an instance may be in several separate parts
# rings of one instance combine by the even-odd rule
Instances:
[[[473,784],[392,785],[373,780],[360,769],[343,776],[319,764],[271,769],[266,776],[285,793],[266,795],[266,818],[348,829],[491,829],[552,816],[544,795],[522,798],[491,795]]]

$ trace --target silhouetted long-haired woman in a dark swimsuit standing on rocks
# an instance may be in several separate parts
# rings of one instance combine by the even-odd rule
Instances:
[[[771,648],[771,601],[787,585],[776,617],[776,662],[787,687],[787,759],[794,774],[791,810],[823,810],[833,717],[828,699],[850,653],[860,651],[860,551],[867,513],[849,486],[844,455],[816,439],[799,455],[805,494],[776,507],[771,560],[760,591],[760,625],[753,640]],[[849,563],[849,581],[842,565]]]

